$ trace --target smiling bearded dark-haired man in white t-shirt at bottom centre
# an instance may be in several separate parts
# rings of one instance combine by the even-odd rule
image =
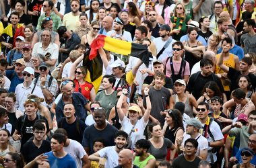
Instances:
[[[119,165],[119,153],[125,149],[127,138],[128,134],[123,130],[119,130],[117,134],[115,134],[115,146],[108,146],[101,149],[100,151],[90,155],[89,160],[100,161],[100,165],[105,165],[105,167],[117,167]],[[105,159],[106,161],[104,161]]]

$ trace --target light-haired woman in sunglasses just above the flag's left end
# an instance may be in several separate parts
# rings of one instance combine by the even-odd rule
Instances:
[[[82,37],[81,44],[86,45],[86,48],[90,48],[90,44],[98,36],[98,31],[100,31],[100,25],[96,21],[92,22],[90,31]]]

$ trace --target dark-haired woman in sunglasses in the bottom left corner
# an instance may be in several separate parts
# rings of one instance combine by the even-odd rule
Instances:
[[[3,163],[5,168],[23,168],[25,166],[22,153],[7,153]]]

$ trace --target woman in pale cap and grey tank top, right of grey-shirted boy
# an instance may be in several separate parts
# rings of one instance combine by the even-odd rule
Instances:
[[[193,108],[197,108],[197,101],[193,95],[185,93],[186,83],[184,80],[178,79],[174,83],[174,89],[176,94],[172,95],[170,101],[173,104],[181,101],[185,104],[184,113],[187,114],[190,118],[193,118]],[[196,113],[195,113],[196,114]]]

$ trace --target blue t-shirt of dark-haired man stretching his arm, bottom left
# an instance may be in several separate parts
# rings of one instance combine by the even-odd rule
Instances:
[[[44,155],[48,156],[48,162],[50,164],[50,167],[76,168],[75,159],[73,159],[73,157],[71,157],[71,155],[69,155],[68,153],[63,158],[55,157],[52,151],[49,153],[44,153]]]

